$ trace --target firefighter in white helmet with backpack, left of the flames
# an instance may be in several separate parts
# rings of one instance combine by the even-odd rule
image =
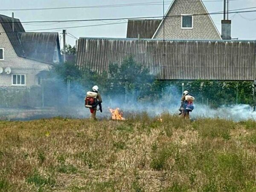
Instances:
[[[85,97],[85,107],[90,108],[90,113],[91,113],[91,119],[97,120],[96,119],[96,111],[97,111],[97,106],[99,105],[99,111],[102,113],[102,98],[98,92],[99,87],[97,85],[93,86],[91,91],[88,91],[86,93]]]

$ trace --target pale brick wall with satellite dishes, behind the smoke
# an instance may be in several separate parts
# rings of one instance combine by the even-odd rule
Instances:
[[[24,89],[38,86],[36,75],[42,70],[49,70],[51,66],[17,56],[1,24],[0,32],[0,48],[4,48],[4,60],[0,61],[0,67],[3,67],[3,69],[10,67],[12,69],[11,74],[6,74],[5,72],[0,74],[0,88]],[[12,74],[25,74],[26,85],[12,85]]]

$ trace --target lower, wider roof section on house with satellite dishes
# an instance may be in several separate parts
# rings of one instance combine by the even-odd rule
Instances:
[[[57,32],[23,32],[18,36],[26,58],[51,64],[56,44],[60,49]]]

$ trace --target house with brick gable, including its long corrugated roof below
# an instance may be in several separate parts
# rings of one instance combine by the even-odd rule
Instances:
[[[127,38],[79,38],[76,64],[102,73],[128,56],[160,80],[256,79],[256,41],[221,39],[201,0],[172,2],[165,39],[163,20],[129,20]]]

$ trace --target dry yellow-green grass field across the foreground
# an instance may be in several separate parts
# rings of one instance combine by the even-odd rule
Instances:
[[[256,191],[255,179],[253,120],[0,121],[4,192]]]

